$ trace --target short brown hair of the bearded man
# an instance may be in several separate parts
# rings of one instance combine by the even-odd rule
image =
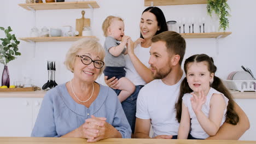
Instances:
[[[181,34],[173,31],[162,32],[152,38],[152,43],[158,41],[164,41],[168,52],[173,52],[175,55],[181,57],[179,59],[179,65],[181,65],[186,50],[186,41]]]

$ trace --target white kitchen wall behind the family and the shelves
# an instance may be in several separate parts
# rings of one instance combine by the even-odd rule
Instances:
[[[108,15],[117,15],[123,17],[125,21],[125,33],[130,35],[133,40],[139,37],[139,21],[144,7],[143,0],[98,0],[100,8],[84,9],[85,17],[92,21],[93,34],[100,39],[103,44],[104,37],[101,30],[103,20]],[[75,28],[75,19],[80,19],[82,9],[67,10],[25,10],[19,7],[19,3],[25,3],[25,0],[0,1],[0,26],[7,28],[11,26],[17,37],[29,37],[30,29],[36,25],[38,28],[62,27],[70,25]],[[219,39],[219,53],[216,50],[216,39],[186,39],[187,51],[185,58],[195,53],[206,53],[214,58],[217,65],[217,76],[226,79],[231,71],[242,70],[241,65],[245,65],[254,71],[256,75],[256,28],[255,28],[255,0],[247,0],[241,3],[240,0],[228,1],[231,8],[232,17],[229,18],[232,34],[226,38]],[[113,5],[118,5],[114,7]],[[210,23],[210,17],[206,12],[206,4],[199,5],[169,5],[160,6],[164,11],[166,20],[175,20],[176,17],[206,17],[207,23]],[[36,15],[36,19],[34,17]],[[207,28],[206,28],[207,30]],[[0,37],[3,31],[0,32]],[[10,82],[14,80],[24,80],[24,77],[30,77],[33,84],[42,87],[48,79],[46,70],[46,61],[56,61],[56,82],[64,83],[72,78],[72,73],[66,70],[63,62],[65,55],[72,42],[42,42],[27,43],[21,41],[19,51],[21,56],[11,61],[9,66]],[[3,65],[0,66],[0,71]],[[2,72],[1,72],[2,73]],[[0,73],[0,74],[1,74]],[[1,76],[0,76],[1,79]],[[99,80],[103,82],[103,80]]]

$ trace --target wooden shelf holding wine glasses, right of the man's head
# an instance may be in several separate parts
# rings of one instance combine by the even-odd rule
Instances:
[[[181,33],[183,38],[225,38],[232,32],[213,32],[213,33]]]

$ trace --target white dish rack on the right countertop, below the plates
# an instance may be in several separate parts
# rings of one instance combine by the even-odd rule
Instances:
[[[256,80],[224,80],[224,85],[240,92],[254,91],[256,92]]]

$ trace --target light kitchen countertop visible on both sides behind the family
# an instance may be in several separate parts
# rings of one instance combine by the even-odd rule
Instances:
[[[43,98],[47,91],[0,92],[0,98]],[[256,99],[256,92],[238,92],[230,90],[234,99]]]

